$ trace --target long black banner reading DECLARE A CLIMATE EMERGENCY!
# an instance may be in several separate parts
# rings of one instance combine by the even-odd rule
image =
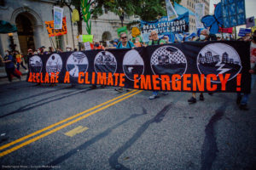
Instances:
[[[249,42],[33,55],[27,82],[101,84],[174,92],[250,92]]]

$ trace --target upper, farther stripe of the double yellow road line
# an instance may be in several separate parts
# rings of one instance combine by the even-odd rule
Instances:
[[[44,128],[41,129],[41,130],[38,130],[38,131],[36,131],[36,132],[34,132],[34,133],[31,133],[31,134],[28,134],[28,135],[26,135],[26,136],[24,136],[24,137],[22,137],[22,138],[20,138],[20,139],[16,139],[15,141],[10,142],[9,144],[4,144],[3,146],[0,146],[0,150],[3,150],[3,149],[5,149],[5,148],[8,148],[9,146],[11,146],[11,145],[13,145],[13,144],[17,144],[17,143],[19,143],[19,142],[21,142],[21,141],[23,141],[23,140],[25,140],[25,139],[28,139],[28,138],[30,138],[30,137],[32,137],[32,136],[35,136],[35,135],[37,135],[38,133],[43,133],[44,131],[46,131],[46,130],[52,128],[52,127],[55,127],[55,126],[57,126],[57,125],[60,125],[60,124],[63,123],[63,122],[70,121],[70,120],[72,120],[73,118],[76,118],[76,117],[78,117],[78,116],[81,116],[81,115],[83,115],[84,113],[87,113],[87,112],[89,112],[89,111],[95,110],[95,109],[101,107],[102,105],[106,105],[106,104],[108,104],[109,102],[112,102],[113,100],[122,98],[122,97],[124,97],[125,95],[131,94],[131,93],[133,93],[133,92],[135,92],[135,91],[137,91],[137,90],[132,90],[132,91],[129,92],[129,93],[120,95],[119,97],[116,97],[116,98],[114,98],[114,99],[110,99],[110,100],[108,100],[108,101],[106,101],[106,102],[104,102],[104,103],[102,103],[102,104],[100,104],[100,105],[96,105],[96,106],[94,106],[94,107],[92,107],[92,108],[90,108],[90,109],[88,109],[88,110],[82,111],[82,112],[78,113],[77,115],[68,117],[67,119],[62,120],[61,122],[56,122],[55,124],[52,124],[52,125],[50,125],[49,127],[44,127]]]

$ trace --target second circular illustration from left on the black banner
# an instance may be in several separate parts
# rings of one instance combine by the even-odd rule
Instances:
[[[49,76],[51,73],[61,72],[62,69],[62,59],[59,54],[51,54],[49,59],[46,62],[46,72],[48,72]]]

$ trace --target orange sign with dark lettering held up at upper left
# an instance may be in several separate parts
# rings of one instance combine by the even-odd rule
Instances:
[[[67,22],[66,17],[62,19],[62,29],[56,30],[54,27],[54,20],[45,21],[45,28],[48,32],[49,37],[61,36],[67,34]]]

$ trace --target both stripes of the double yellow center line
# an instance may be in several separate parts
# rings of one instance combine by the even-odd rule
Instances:
[[[55,124],[52,124],[49,127],[44,127],[41,130],[38,130],[38,131],[36,131],[34,133],[31,133],[31,134],[28,134],[28,135],[26,135],[26,136],[24,136],[24,137],[22,137],[20,139],[16,139],[15,141],[10,142],[9,144],[4,144],[3,146],[0,146],[0,150],[4,150],[6,148],[9,148],[10,146],[12,146],[14,144],[18,144],[18,143],[20,143],[20,142],[22,142],[22,141],[24,141],[26,139],[29,139],[31,137],[34,137],[34,136],[38,135],[39,133],[42,133],[42,134],[40,134],[40,135],[38,135],[38,136],[36,136],[36,137],[34,137],[32,139],[26,140],[25,142],[23,142],[21,144],[15,145],[15,147],[10,148],[9,150],[4,150],[3,152],[0,152],[0,157],[6,156],[6,155],[8,155],[9,153],[11,153],[11,152],[13,152],[15,150],[19,150],[20,148],[22,148],[23,146],[26,146],[27,144],[31,144],[32,142],[35,142],[38,139],[42,139],[42,138],[48,136],[51,133],[55,133],[55,132],[61,130],[62,128],[64,128],[64,127],[72,125],[75,122],[79,122],[80,120],[82,120],[82,119],[84,119],[84,118],[86,118],[88,116],[94,115],[96,112],[99,112],[99,111],[102,111],[104,109],[107,109],[108,107],[110,107],[112,105],[115,105],[115,104],[117,104],[117,103],[119,103],[119,102],[121,102],[121,101],[123,101],[125,99],[131,98],[132,96],[134,96],[136,94],[139,94],[141,92],[142,92],[142,90],[132,90],[129,93],[120,95],[119,97],[116,97],[114,99],[110,99],[110,100],[108,100],[108,101],[106,101],[106,102],[104,102],[104,103],[102,103],[100,105],[96,105],[96,106],[94,106],[94,107],[92,107],[92,108],[90,108],[88,110],[82,111],[82,112],[78,113],[77,115],[70,116],[67,119],[62,120],[61,122],[56,122]],[[90,113],[88,113],[88,112],[90,112]],[[88,114],[85,114],[85,113],[88,113]],[[74,118],[76,118],[76,119],[74,119]],[[68,122],[68,121],[70,121],[70,122]],[[67,122],[67,123],[61,125],[64,122]],[[56,127],[58,125],[61,125],[61,126],[60,127]],[[53,127],[55,127],[55,128],[53,128]],[[51,128],[53,128],[53,129],[51,129]],[[49,129],[51,129],[51,130],[47,131]],[[45,132],[45,131],[47,131],[47,132]]]

